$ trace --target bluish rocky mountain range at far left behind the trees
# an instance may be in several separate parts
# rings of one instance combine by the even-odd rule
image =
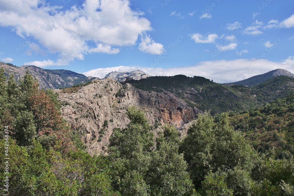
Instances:
[[[61,88],[61,87],[70,87],[79,83],[86,83],[94,79],[89,76],[86,77],[83,74],[76,73],[69,70],[63,69],[43,69],[36,66],[21,66],[16,67],[11,63],[0,62],[0,67],[3,67],[5,70],[5,75],[8,77],[11,73],[14,73],[14,78],[18,82],[21,77],[26,73],[26,70],[32,74],[34,78],[38,79],[40,83],[40,88]]]

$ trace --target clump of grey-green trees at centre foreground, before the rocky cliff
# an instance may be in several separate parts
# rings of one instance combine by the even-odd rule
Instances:
[[[114,187],[122,195],[192,195],[192,182],[183,154],[178,154],[179,136],[174,127],[164,127],[153,141],[144,113],[128,108],[131,123],[116,130],[110,140]]]

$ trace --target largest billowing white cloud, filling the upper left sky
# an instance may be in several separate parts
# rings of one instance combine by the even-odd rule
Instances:
[[[9,4],[11,0],[2,0],[0,6]],[[131,10],[130,0],[85,0],[67,10],[44,0],[22,0],[11,11],[5,9],[0,9],[0,26],[34,38],[58,55],[54,64],[59,65],[83,60],[89,52],[117,53],[120,46],[133,46],[138,36],[153,30],[143,12]]]

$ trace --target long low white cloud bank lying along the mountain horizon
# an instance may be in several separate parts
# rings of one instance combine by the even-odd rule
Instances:
[[[213,79],[218,83],[236,82],[263,74],[275,69],[286,69],[294,73],[294,57],[289,57],[283,63],[268,61],[265,59],[236,59],[236,60],[218,60],[204,61],[195,66],[186,66],[178,68],[148,68],[148,67],[112,67],[90,70],[83,73],[86,76],[96,76],[104,78],[111,71],[133,71],[140,69],[151,76],[174,76],[183,74],[186,76],[202,76]]]

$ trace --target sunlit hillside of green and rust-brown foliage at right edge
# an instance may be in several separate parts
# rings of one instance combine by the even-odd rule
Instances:
[[[294,155],[294,92],[260,108],[245,111],[231,118],[231,125],[244,133],[258,152],[275,148],[276,158]]]

